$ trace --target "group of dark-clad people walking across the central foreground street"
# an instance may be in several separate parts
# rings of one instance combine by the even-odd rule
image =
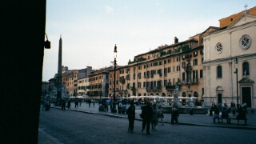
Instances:
[[[134,131],[134,119],[135,119],[135,106],[134,102],[130,102],[130,107],[127,109],[126,114],[128,114],[129,119],[129,126],[128,131],[133,132]],[[162,106],[157,106],[155,103],[152,106],[151,102],[146,102],[146,106],[142,106],[142,114],[141,118],[142,121],[142,133],[146,128],[146,134],[150,134],[150,123],[152,130],[156,130],[156,126],[158,125],[159,118],[164,118],[164,115],[162,113]],[[172,114],[171,114],[171,124],[174,125],[174,121],[178,124],[178,109],[176,107],[173,107]],[[163,125],[163,122],[162,122]]]

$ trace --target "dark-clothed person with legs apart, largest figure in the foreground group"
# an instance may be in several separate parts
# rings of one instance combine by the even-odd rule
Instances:
[[[152,118],[153,110],[150,102],[146,102],[146,106],[142,107],[142,133],[146,127],[146,134],[150,134],[150,120]]]

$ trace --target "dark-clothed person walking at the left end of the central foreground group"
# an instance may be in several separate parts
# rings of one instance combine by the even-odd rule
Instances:
[[[128,131],[134,132],[134,119],[135,119],[134,102],[130,102],[130,106],[129,106],[126,114],[128,115],[128,120],[129,120]]]

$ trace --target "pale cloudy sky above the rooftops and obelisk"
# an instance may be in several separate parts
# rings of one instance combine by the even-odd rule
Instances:
[[[219,26],[219,19],[237,14],[255,0],[49,0],[42,81],[58,73],[58,42],[62,37],[62,66],[94,70],[111,66],[117,45],[118,66],[134,56],[171,45]]]

